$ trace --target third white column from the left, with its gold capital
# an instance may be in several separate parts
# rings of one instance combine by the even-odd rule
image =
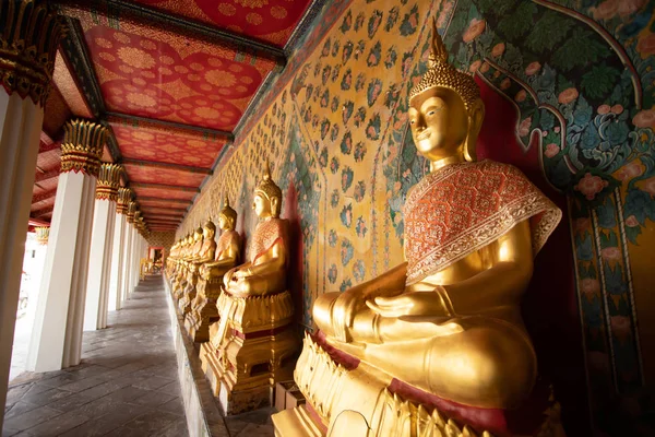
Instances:
[[[116,201],[118,200],[121,172],[122,168],[119,165],[103,164],[98,176],[93,231],[91,233],[91,251],[88,255],[88,279],[84,310],[85,331],[107,328],[114,224],[116,222]]]

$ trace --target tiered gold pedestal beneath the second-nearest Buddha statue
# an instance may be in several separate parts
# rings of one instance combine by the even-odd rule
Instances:
[[[298,341],[289,292],[216,304],[221,321],[200,351],[202,368],[225,414],[271,405],[275,383],[291,377]]]

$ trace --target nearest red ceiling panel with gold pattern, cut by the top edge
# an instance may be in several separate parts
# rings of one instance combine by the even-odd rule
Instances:
[[[136,0],[283,47],[310,0]]]

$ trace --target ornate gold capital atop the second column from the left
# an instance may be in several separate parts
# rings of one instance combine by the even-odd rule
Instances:
[[[61,173],[82,172],[97,177],[107,133],[107,128],[93,121],[67,121],[61,143]]]

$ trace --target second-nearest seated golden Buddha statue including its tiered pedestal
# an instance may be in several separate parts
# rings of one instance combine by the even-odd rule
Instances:
[[[252,208],[260,222],[251,237],[250,260],[224,274],[216,303],[219,321],[210,328],[210,341],[200,353],[226,414],[269,404],[275,382],[291,376],[298,349],[286,288],[287,221],[279,218],[282,190],[267,165]]]

